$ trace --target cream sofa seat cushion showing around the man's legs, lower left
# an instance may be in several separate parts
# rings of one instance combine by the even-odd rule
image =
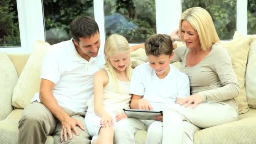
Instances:
[[[17,144],[22,110],[14,109],[5,120],[0,121],[0,144]],[[53,136],[47,136],[45,144],[53,144]]]

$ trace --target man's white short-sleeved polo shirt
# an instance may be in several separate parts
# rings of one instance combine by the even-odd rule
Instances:
[[[77,53],[71,39],[52,45],[43,60],[41,78],[55,83],[53,96],[61,107],[86,111],[86,102],[93,94],[94,74],[104,64],[103,48],[98,56],[87,61]],[[32,101],[40,102],[39,93],[35,93]]]

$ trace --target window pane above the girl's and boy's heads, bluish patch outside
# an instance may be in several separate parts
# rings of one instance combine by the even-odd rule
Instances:
[[[106,37],[123,35],[129,43],[144,43],[156,33],[155,0],[104,0]]]

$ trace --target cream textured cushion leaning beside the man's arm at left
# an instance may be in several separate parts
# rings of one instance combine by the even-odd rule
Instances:
[[[25,108],[35,93],[39,92],[40,74],[45,53],[51,47],[43,41],[36,41],[34,51],[29,56],[12,96],[12,105],[17,108]]]

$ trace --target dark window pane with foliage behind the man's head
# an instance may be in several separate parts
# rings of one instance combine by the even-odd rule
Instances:
[[[70,40],[69,24],[78,16],[94,18],[93,0],[43,0],[45,35],[48,43]]]

